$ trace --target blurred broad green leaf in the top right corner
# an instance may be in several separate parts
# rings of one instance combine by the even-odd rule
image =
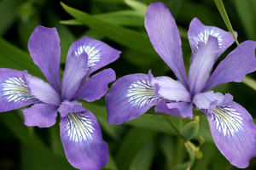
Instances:
[[[247,37],[256,40],[256,1],[255,0],[235,0],[235,6],[239,18],[241,20],[241,26],[247,31]]]

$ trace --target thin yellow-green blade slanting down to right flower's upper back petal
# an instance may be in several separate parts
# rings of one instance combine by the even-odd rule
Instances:
[[[236,44],[238,45],[239,42],[236,39],[235,32],[234,32],[233,27],[230,23],[230,19],[228,17],[226,9],[224,8],[224,4],[223,4],[222,0],[214,0],[214,2],[215,2],[216,6],[218,8],[219,14],[221,15],[222,19],[224,20],[225,25],[227,26],[228,30],[230,31],[233,38],[235,39]]]

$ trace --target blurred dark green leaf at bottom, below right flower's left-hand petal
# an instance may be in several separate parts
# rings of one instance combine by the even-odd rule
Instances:
[[[142,128],[133,127],[122,139],[116,156],[119,169],[128,170],[131,162],[142,150],[148,140],[153,139],[156,133]]]

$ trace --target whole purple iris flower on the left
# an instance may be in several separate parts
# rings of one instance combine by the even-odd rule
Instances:
[[[120,52],[106,43],[83,37],[73,42],[60,80],[60,38],[55,28],[38,26],[28,42],[32,59],[49,83],[26,71],[0,69],[0,111],[25,105],[26,126],[50,127],[61,113],[61,142],[73,167],[97,170],[108,162],[108,144],[96,117],[76,100],[100,99],[115,80],[112,69],[105,69],[86,80],[90,74],[119,58]]]

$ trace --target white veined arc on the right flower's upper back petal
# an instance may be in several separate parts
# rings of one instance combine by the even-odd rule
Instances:
[[[218,38],[218,47],[219,48],[224,48],[223,47],[223,39],[220,36],[219,32],[216,29],[214,29],[214,28],[212,28],[211,30],[205,29],[205,30],[201,31],[197,35],[197,37],[193,37],[195,39],[195,48],[196,49],[199,48],[199,43],[200,42],[205,42],[207,44],[209,36]]]

